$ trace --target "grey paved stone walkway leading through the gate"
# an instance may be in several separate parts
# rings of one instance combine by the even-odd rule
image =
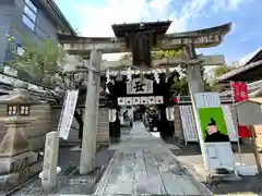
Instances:
[[[169,150],[178,147],[152,136],[141,122],[110,148],[115,156],[94,195],[212,195]]]

